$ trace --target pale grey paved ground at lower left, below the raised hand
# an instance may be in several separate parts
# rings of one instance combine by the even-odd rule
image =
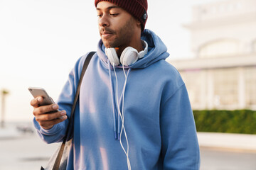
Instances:
[[[47,145],[36,135],[0,140],[0,169],[33,170],[45,165],[58,145]]]

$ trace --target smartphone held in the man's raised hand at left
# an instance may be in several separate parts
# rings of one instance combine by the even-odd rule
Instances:
[[[28,87],[28,91],[31,92],[31,94],[34,98],[36,98],[38,96],[43,97],[43,102],[41,103],[41,106],[46,106],[46,105],[50,105],[50,104],[55,103],[53,101],[53,99],[50,98],[50,96],[47,94],[46,90],[41,88],[41,87]],[[56,111],[59,111],[59,110],[56,110]],[[52,111],[50,113],[54,113],[56,111]]]

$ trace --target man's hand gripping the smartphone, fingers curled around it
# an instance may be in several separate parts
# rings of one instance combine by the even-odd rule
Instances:
[[[40,106],[43,98],[37,97],[31,100],[31,106],[33,106],[33,115],[35,115],[36,121],[41,125],[44,129],[53,128],[53,125],[63,122],[68,117],[65,111],[56,111],[58,110],[57,104],[52,104],[48,106]],[[52,111],[56,111],[54,113],[49,113]]]

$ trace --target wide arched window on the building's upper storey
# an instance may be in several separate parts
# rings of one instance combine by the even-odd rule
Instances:
[[[203,45],[199,50],[199,57],[223,57],[238,55],[239,42],[237,40],[215,40]]]

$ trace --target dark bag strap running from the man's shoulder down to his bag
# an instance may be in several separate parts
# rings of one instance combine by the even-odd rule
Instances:
[[[69,120],[69,123],[68,123],[68,128],[65,132],[65,137],[63,138],[63,143],[62,143],[62,145],[60,147],[60,150],[58,152],[58,156],[56,157],[56,160],[55,160],[55,163],[54,163],[54,166],[53,166],[53,170],[58,170],[59,169],[61,157],[63,155],[63,151],[64,151],[64,147],[65,147],[65,142],[68,139],[68,133],[71,129],[73,129],[70,126],[73,124],[73,117],[74,117],[73,115],[74,115],[74,112],[75,112],[75,106],[76,106],[76,103],[78,101],[78,96],[79,96],[79,93],[80,93],[80,86],[82,84],[82,78],[84,77],[84,74],[85,74],[85,71],[88,67],[88,64],[89,64],[89,62],[90,62],[90,60],[91,60],[91,58],[94,54],[95,54],[95,52],[90,52],[89,55],[87,55],[87,57],[85,59],[85,63],[82,66],[82,72],[81,72],[80,79],[79,79],[79,82],[78,82],[77,91],[75,92],[75,98],[74,98],[72,110],[71,110],[71,113],[70,113],[70,120]]]

